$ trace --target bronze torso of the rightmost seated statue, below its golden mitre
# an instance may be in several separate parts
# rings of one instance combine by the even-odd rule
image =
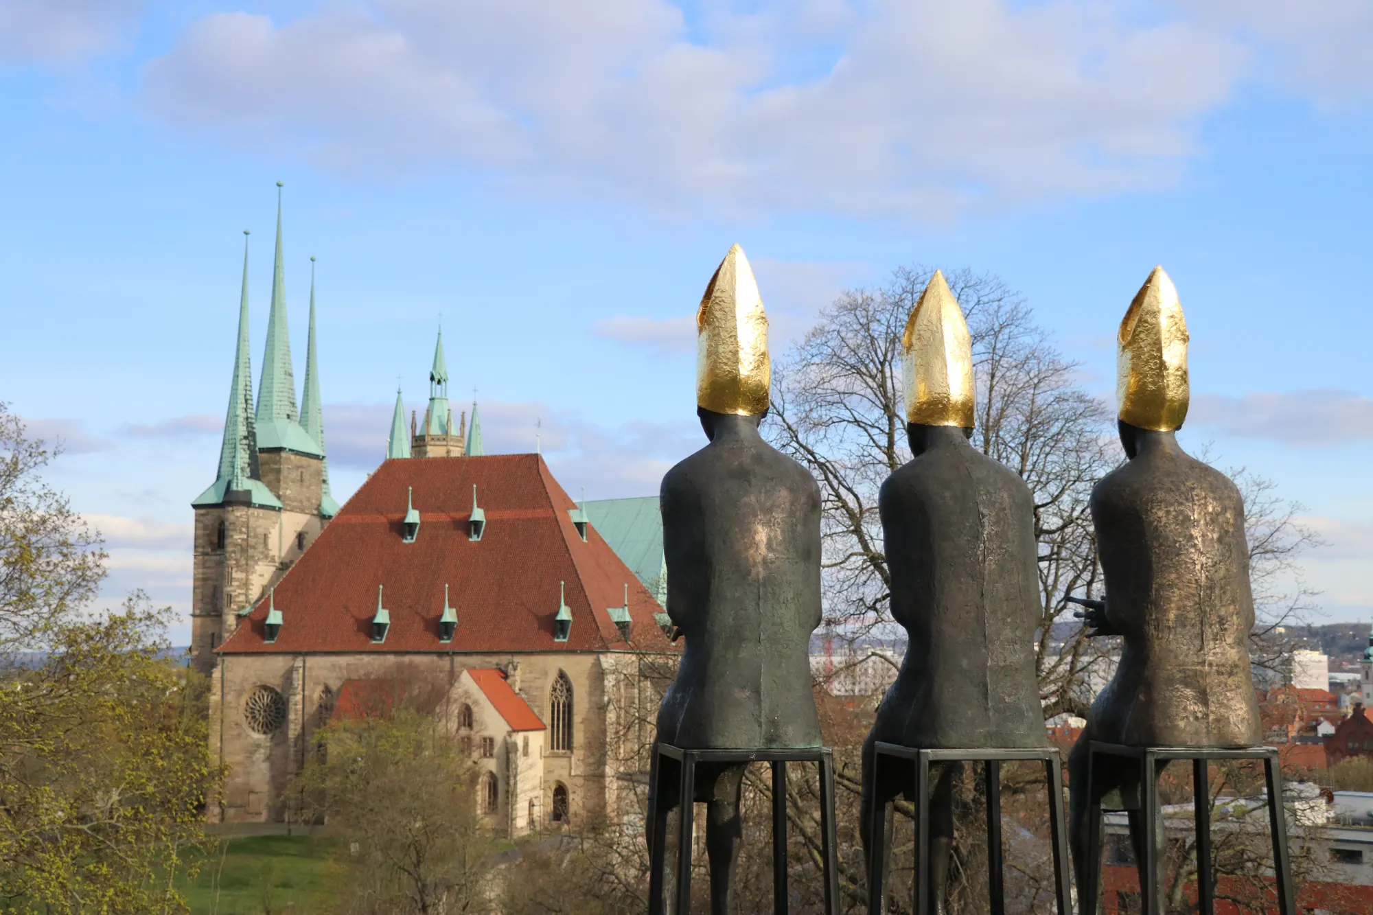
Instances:
[[[1254,745],[1244,503],[1223,474],[1153,436],[1092,492],[1107,620],[1123,637],[1115,677],[1092,705],[1094,739]]]

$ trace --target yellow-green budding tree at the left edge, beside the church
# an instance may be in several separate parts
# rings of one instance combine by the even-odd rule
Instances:
[[[168,661],[168,610],[86,614],[99,536],[0,404],[0,908],[180,912],[218,783],[205,683]]]

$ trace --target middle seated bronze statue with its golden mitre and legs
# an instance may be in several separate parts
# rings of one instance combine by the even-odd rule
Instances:
[[[891,576],[891,614],[908,632],[906,657],[864,743],[865,853],[877,809],[910,798],[910,767],[873,778],[873,745],[920,749],[1048,745],[1034,654],[1039,580],[1034,504],[1024,482],[968,441],[973,425],[972,352],[958,302],[935,272],[902,337],[912,460],[881,486],[879,510]],[[953,782],[934,779],[931,911],[945,911],[953,844]],[[890,849],[891,842],[884,848]],[[886,868],[883,868],[886,871]],[[870,892],[880,892],[872,888]]]

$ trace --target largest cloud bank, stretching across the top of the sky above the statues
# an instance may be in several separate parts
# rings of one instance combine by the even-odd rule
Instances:
[[[146,70],[162,120],[339,170],[475,168],[670,213],[950,218],[1151,187],[1244,51],[1049,0],[375,0],[220,12]],[[822,60],[817,65],[814,60]]]

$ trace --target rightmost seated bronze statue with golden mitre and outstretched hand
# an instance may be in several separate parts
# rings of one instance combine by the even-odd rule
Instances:
[[[1256,745],[1263,734],[1249,672],[1244,501],[1225,474],[1177,442],[1188,409],[1186,342],[1177,290],[1155,268],[1119,334],[1119,431],[1129,462],[1092,492],[1105,600],[1082,602],[1089,610],[1078,615],[1090,635],[1118,635],[1123,644],[1068,757],[1079,899],[1092,741],[1236,747]],[[1127,811],[1135,860],[1144,861],[1138,767],[1112,762],[1096,775],[1098,784],[1105,779],[1103,806]],[[1096,900],[1083,911],[1094,912]]]

